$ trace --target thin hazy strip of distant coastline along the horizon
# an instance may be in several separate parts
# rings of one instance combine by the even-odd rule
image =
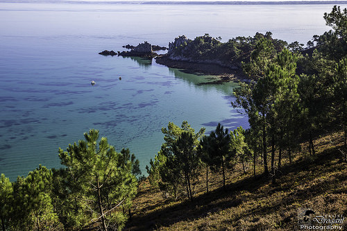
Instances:
[[[347,1],[79,1],[79,0],[0,0],[0,3],[87,3],[138,5],[341,5]]]

